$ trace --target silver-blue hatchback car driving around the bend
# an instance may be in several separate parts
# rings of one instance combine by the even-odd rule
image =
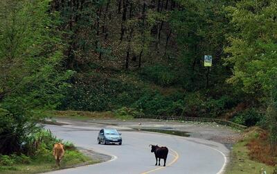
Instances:
[[[118,143],[119,145],[122,144],[122,138],[120,133],[116,129],[102,129],[100,130],[98,137],[98,143]]]

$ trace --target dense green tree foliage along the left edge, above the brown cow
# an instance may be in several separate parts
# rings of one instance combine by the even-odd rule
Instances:
[[[63,44],[49,2],[0,2],[1,154],[29,143],[39,110],[56,107],[71,74],[59,68]]]

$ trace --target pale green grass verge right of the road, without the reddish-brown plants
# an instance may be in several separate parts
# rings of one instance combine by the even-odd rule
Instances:
[[[253,146],[249,146],[253,140],[260,141],[260,135],[264,130],[260,128],[249,128],[245,130],[243,138],[235,143],[231,152],[231,162],[226,168],[226,174],[260,174],[266,171],[266,173],[273,173],[274,166],[269,166],[265,163],[259,162],[256,157],[268,157],[269,154],[257,153],[253,155],[251,150]],[[263,144],[262,142],[260,142]],[[256,157],[253,157],[256,156]]]

